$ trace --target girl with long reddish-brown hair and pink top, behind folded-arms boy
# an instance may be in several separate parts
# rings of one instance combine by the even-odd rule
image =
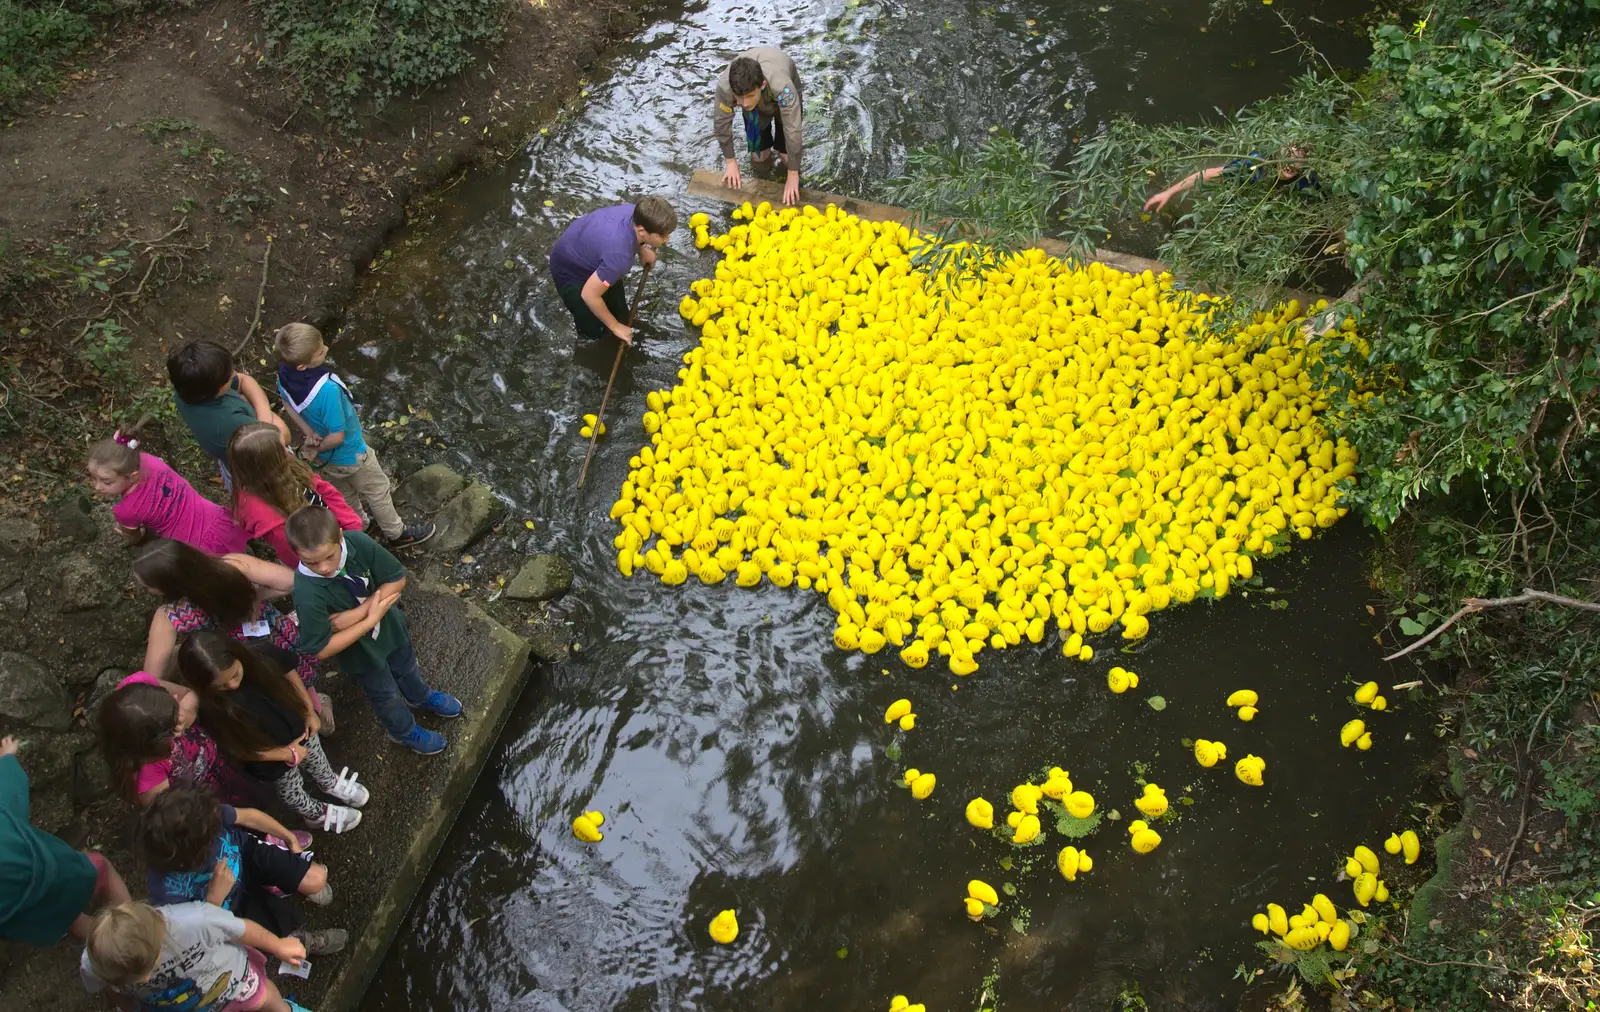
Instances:
[[[234,476],[234,520],[251,538],[266,540],[278,562],[290,568],[299,565],[299,556],[290,548],[283,525],[301,506],[325,506],[344,530],[363,527],[339,490],[288,452],[278,431],[266,423],[234,431],[227,469]]]

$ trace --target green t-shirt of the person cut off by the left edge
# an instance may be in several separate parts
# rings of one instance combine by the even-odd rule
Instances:
[[[0,938],[61,942],[90,905],[98,873],[90,858],[27,821],[27,773],[0,757]]]

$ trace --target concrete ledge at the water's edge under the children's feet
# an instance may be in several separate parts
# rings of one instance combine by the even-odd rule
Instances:
[[[339,733],[326,743],[330,759],[360,770],[373,799],[349,834],[317,834],[317,858],[328,865],[334,903],[326,910],[304,905],[309,927],[346,927],[350,946],[312,959],[306,983],[275,977],[317,1012],[350,1012],[360,1004],[528,679],[528,644],[448,589],[406,589],[405,613],[429,684],[459,697],[466,714],[424,717],[424,725],[450,738],[450,748],[416,756],[389,741],[358,687],[330,677],[339,719]]]

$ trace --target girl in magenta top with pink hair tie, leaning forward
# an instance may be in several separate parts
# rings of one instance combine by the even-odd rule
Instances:
[[[227,509],[195,492],[162,458],[139,453],[138,445],[118,432],[94,444],[86,463],[94,495],[117,496],[112,516],[123,536],[171,538],[213,556],[245,551],[245,532]]]

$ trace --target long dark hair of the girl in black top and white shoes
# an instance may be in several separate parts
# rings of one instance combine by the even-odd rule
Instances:
[[[296,674],[278,671],[264,657],[216,629],[200,629],[178,647],[178,677],[200,697],[200,724],[235,762],[259,762],[261,753],[278,748],[261,727],[234,700],[232,692],[216,687],[216,676],[227,671],[234,661],[243,668],[253,692],[285,706],[290,713],[307,717],[306,705],[290,685]]]

